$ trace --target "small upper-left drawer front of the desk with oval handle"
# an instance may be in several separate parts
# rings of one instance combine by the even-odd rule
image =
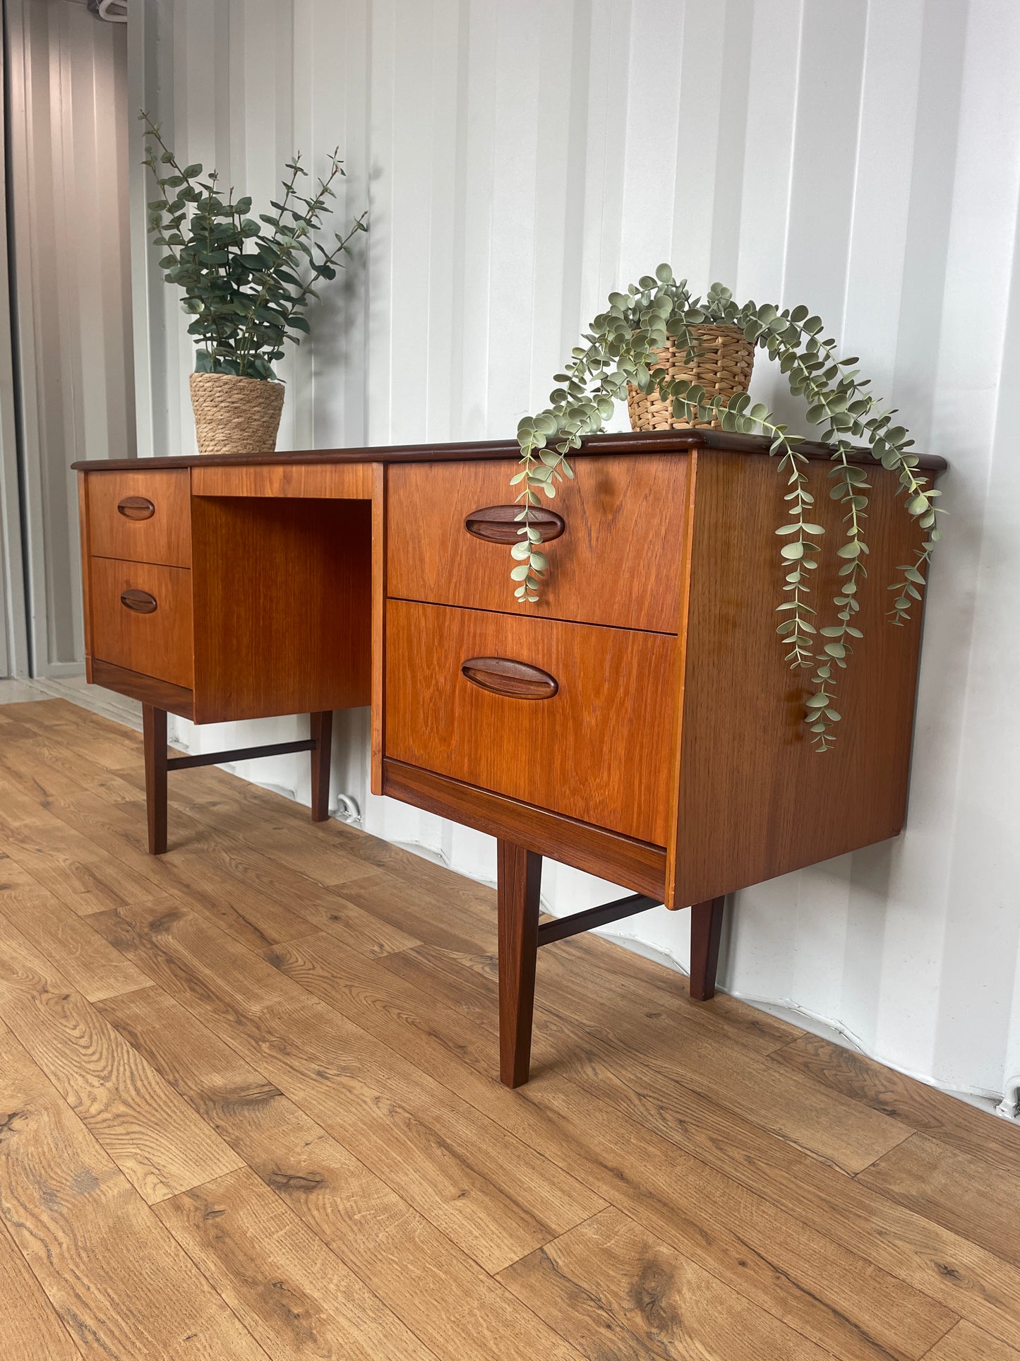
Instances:
[[[190,568],[190,474],[90,472],[88,551],[98,558]]]

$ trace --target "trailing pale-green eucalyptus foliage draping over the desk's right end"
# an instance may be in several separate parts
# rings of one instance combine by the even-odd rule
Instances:
[[[660,363],[658,351],[670,339],[679,351],[685,351],[688,362],[695,359],[699,347],[691,327],[704,324],[738,327],[747,340],[777,359],[790,392],[806,401],[806,419],[820,426],[821,442],[832,449],[830,497],[846,512],[845,542],[836,548],[843,559],[832,600],[836,623],[819,627],[816,611],[808,603],[809,574],[819,565],[824,529],[816,523],[815,498],[808,490],[808,457],[798,449],[802,438],[790,434],[763,403],[752,403],[747,392],[726,400],[688,380],[670,378]],[[664,401],[672,401],[676,419],[718,418],[724,430],[768,436],[768,452],[778,456],[778,471],[789,486],[786,523],[775,531],[783,540],[779,561],[785,577],[785,599],[777,606],[783,619],[777,634],[790,668],[812,671],[813,693],[806,700],[805,721],[819,751],[827,751],[835,740],[840,719],[836,674],[846,670],[854,641],[861,637],[854,617],[868,576],[864,523],[870,483],[865,468],[849,459],[850,441],[866,440],[876,461],[899,474],[906,510],[925,531],[914,561],[896,569],[900,576],[888,588],[894,592],[888,611],[892,623],[904,623],[914,602],[921,599],[923,568],[940,538],[937,517],[942,514],[934,504],[938,491],[918,474],[919,460],[910,452],[914,441],[903,426],[894,423],[895,410],[884,408],[865,391],[869,380],[855,369],[858,361],[838,358],[835,340],[824,339],[823,332],[821,320],[804,306],[740,305],[721,283],[714,283],[707,297],[692,298],[687,280],[675,279],[668,264],[661,264],[654,278],[645,275],[632,283],[627,293],[611,293],[609,306],[592,323],[585,344],[571,351],[564,372],[555,376],[558,387],[549,395],[549,406],[518,425],[521,464],[511,480],[521,489],[517,495],[521,512],[518,542],[510,550],[515,559],[510,572],[517,583],[514,595],[522,604],[534,604],[548,559],[541,551],[541,529],[533,523],[533,508],[543,495],[555,497],[558,482],[574,476],[567,455],[579,448],[585,436],[602,429],[613,403],[626,400],[628,384],[646,393],[657,391]]]

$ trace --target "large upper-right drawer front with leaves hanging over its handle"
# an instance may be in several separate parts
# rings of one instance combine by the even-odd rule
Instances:
[[[577,476],[560,483],[552,501],[543,497],[543,510],[562,516],[563,531],[544,546],[549,573],[537,606],[514,599],[509,544],[515,512],[477,514],[513,506],[520,491],[510,486],[513,460],[392,465],[386,593],[676,633],[688,457],[575,459]]]

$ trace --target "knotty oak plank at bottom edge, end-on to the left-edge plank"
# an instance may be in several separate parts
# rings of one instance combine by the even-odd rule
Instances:
[[[155,1213],[279,1361],[434,1361],[249,1168],[163,1200]]]

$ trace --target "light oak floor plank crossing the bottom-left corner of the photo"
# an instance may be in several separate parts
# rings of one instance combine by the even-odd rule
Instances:
[[[265,1361],[3,1023],[0,1075],[0,1213],[83,1354]],[[15,1361],[4,1316],[0,1339]]]

